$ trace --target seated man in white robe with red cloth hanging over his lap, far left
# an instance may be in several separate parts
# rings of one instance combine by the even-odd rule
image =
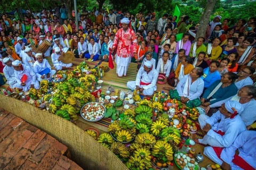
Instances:
[[[15,79],[17,83],[13,87],[28,91],[30,88],[39,89],[39,82],[36,80],[36,74],[30,66],[21,64],[19,60],[12,62],[14,68]]]

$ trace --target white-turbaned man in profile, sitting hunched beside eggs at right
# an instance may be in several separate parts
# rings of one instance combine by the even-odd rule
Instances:
[[[212,147],[230,147],[238,134],[246,130],[242,118],[237,114],[243,110],[242,104],[237,101],[227,101],[211,117],[200,115],[198,122],[201,129],[207,134],[203,139],[198,139],[198,142]],[[219,120],[220,122],[218,122]]]

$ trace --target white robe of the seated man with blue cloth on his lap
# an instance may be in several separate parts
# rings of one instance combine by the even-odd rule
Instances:
[[[38,81],[47,80],[46,75],[45,75],[44,79],[41,79],[42,75],[39,74],[39,72],[45,70],[46,68],[49,68],[51,70],[50,77],[56,73],[56,70],[52,70],[51,65],[49,64],[49,62],[46,59],[43,59],[42,63],[39,63],[38,61],[36,61],[34,63],[33,69],[34,69],[34,72],[36,74]]]

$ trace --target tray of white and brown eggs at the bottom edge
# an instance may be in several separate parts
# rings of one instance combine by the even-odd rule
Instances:
[[[180,169],[188,167],[190,170],[194,170],[198,165],[192,154],[185,154],[182,152],[174,154],[174,161]]]

